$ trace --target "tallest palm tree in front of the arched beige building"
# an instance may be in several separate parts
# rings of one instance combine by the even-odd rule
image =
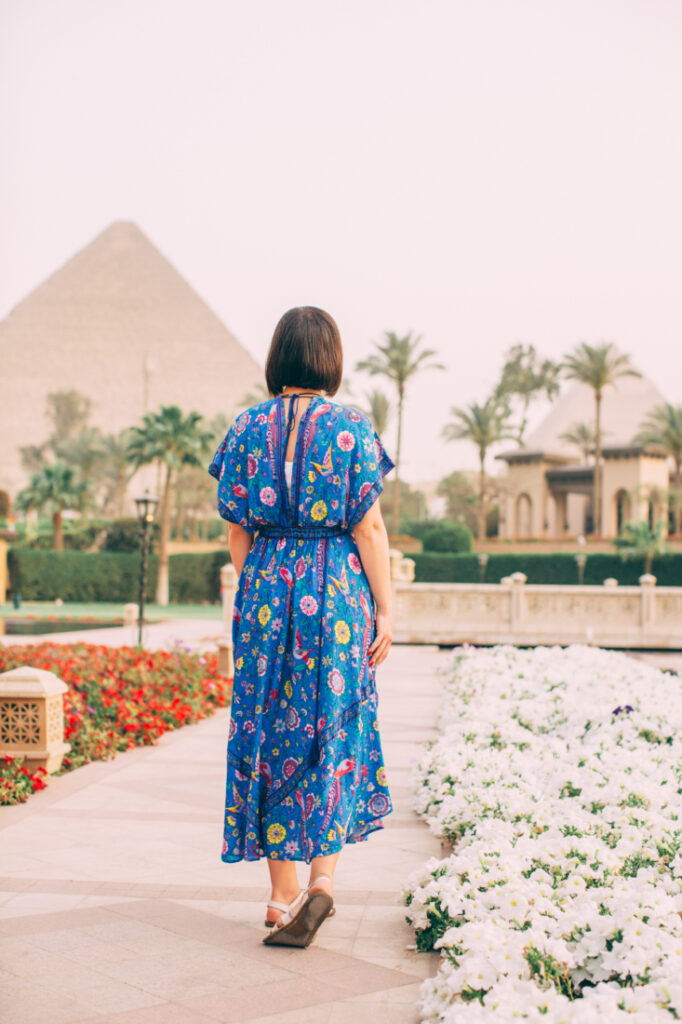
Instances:
[[[630,357],[619,352],[611,341],[588,345],[583,341],[561,362],[571,380],[587,384],[594,391],[594,531],[601,535],[601,400],[605,387],[615,386],[621,377],[641,377]]]

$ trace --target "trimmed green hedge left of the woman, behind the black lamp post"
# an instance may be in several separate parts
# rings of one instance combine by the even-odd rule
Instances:
[[[171,555],[169,598],[172,604],[220,600],[220,567],[229,553]],[[125,604],[139,596],[139,552],[41,551],[10,548],[10,590],[25,601],[113,601]],[[159,556],[150,555],[145,600],[156,598]]]

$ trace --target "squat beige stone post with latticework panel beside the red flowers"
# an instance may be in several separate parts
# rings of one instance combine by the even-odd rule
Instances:
[[[49,774],[71,750],[63,741],[68,686],[53,672],[22,665],[0,674],[0,757],[26,758],[28,769]]]

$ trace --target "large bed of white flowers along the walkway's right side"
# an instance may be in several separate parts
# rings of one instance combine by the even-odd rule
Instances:
[[[682,1019],[679,677],[591,647],[460,648],[439,726],[414,806],[455,851],[402,891],[442,957],[422,1019]]]

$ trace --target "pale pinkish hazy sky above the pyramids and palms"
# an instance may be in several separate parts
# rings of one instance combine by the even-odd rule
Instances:
[[[300,304],[368,388],[437,349],[408,479],[475,465],[440,430],[517,341],[682,401],[680,54],[680,0],[0,0],[0,316],[134,220],[261,362]]]

